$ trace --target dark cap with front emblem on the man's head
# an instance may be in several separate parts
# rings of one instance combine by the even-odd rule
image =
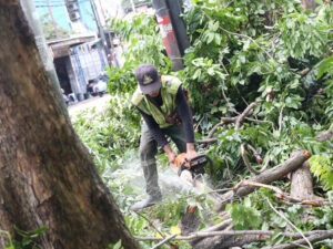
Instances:
[[[158,69],[152,64],[139,65],[135,71],[135,77],[143,94],[161,89],[162,83]]]

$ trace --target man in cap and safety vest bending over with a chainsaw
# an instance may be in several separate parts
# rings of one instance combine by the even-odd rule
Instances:
[[[170,163],[174,163],[176,157],[165,135],[175,143],[180,153],[186,153],[188,159],[198,156],[192,115],[181,81],[173,76],[160,76],[152,64],[141,64],[135,71],[135,77],[139,86],[132,103],[144,120],[141,127],[140,159],[148,198],[137,203],[132,210],[152,206],[162,199],[155,163],[158,145],[164,149]],[[178,120],[181,120],[182,127]]]

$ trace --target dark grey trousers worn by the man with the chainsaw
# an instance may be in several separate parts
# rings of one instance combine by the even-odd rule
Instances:
[[[179,153],[186,152],[186,141],[183,129],[179,125],[172,125],[162,129],[176,145]],[[145,191],[150,196],[160,196],[159,176],[155,155],[158,153],[158,143],[153,138],[145,123],[141,127],[140,139],[140,160],[145,179]]]

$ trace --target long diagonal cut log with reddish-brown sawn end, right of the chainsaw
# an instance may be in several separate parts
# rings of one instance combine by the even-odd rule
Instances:
[[[283,176],[293,172],[302,166],[302,164],[311,157],[311,154],[306,151],[294,152],[291,157],[284,163],[268,169],[266,172],[249,179],[251,181],[256,181],[261,184],[270,184],[278,179],[281,179]],[[215,211],[220,211],[224,208],[228,201],[232,200],[235,196],[246,196],[250,193],[256,189],[255,186],[241,186],[234,190],[228,191],[224,195],[221,195],[222,201],[214,206]]]

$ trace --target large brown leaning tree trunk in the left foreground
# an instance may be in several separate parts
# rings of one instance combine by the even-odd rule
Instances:
[[[18,0],[0,0],[0,230],[47,225],[44,249],[119,239],[139,248],[47,77]]]

